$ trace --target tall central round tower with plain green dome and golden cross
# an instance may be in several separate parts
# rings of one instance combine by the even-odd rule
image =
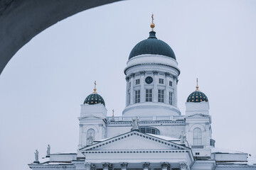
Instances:
[[[134,46],[124,69],[127,80],[124,117],[181,115],[177,107],[178,62],[171,47],[156,38],[153,21],[152,15],[149,38]]]

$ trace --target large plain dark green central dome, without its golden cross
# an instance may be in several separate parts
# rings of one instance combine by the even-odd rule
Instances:
[[[137,55],[164,55],[171,57],[176,60],[174,51],[171,47],[162,40],[156,38],[156,32],[151,31],[149,33],[149,38],[142,40],[132,49],[129,59]]]

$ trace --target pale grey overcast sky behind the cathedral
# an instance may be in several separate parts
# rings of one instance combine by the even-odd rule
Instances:
[[[0,169],[29,169],[39,156],[78,146],[80,104],[97,92],[122,115],[124,67],[137,42],[156,37],[176,54],[178,107],[196,89],[208,96],[215,147],[256,156],[256,1],[121,1],[44,30],[0,75]],[[15,164],[14,164],[15,162]]]

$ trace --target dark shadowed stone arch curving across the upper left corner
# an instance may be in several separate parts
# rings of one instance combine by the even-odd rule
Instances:
[[[75,13],[115,1],[121,0],[0,0],[0,74],[41,31]]]

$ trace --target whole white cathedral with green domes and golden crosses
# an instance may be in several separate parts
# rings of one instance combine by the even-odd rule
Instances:
[[[198,86],[181,115],[176,56],[156,38],[153,22],[151,28],[149,38],[132,49],[124,68],[122,116],[107,117],[105,101],[95,87],[81,105],[77,152],[51,154],[48,145],[46,157],[39,159],[36,150],[36,161],[28,164],[31,169],[256,170],[247,153],[215,148],[208,98]]]

